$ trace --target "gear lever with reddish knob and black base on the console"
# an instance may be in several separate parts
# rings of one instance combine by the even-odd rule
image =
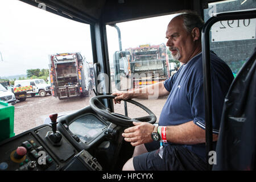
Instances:
[[[51,114],[49,115],[49,118],[51,119],[50,125],[52,125],[52,132],[48,131],[46,134],[46,138],[49,140],[49,142],[52,143],[53,146],[61,146],[62,143],[62,136],[57,131],[57,117],[58,114]]]

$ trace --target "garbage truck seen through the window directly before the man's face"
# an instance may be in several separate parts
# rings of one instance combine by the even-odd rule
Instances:
[[[115,80],[131,77],[132,89],[142,88],[170,77],[165,44],[143,44],[114,54]],[[122,80],[122,79],[121,79]]]

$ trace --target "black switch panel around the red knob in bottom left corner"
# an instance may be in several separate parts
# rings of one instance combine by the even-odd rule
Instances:
[[[58,164],[32,133],[0,146],[0,170],[56,170]]]

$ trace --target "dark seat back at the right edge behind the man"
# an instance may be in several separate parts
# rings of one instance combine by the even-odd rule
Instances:
[[[213,170],[255,170],[256,48],[225,97]]]

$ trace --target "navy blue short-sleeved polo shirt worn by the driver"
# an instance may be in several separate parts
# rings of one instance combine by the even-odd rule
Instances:
[[[210,53],[212,82],[213,133],[218,134],[224,97],[234,78],[228,65],[213,52]],[[166,81],[170,92],[159,118],[159,126],[180,125],[193,121],[205,129],[204,85],[202,53],[199,53]],[[201,158],[205,158],[205,143],[184,145]],[[213,143],[215,150],[216,142]]]

